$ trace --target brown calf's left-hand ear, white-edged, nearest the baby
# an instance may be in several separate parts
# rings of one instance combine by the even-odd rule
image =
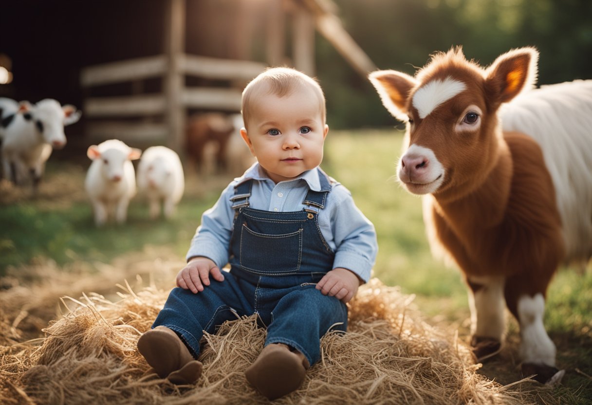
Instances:
[[[416,79],[396,70],[377,70],[370,73],[368,79],[388,112],[398,120],[407,121],[407,99],[411,89],[418,84]]]

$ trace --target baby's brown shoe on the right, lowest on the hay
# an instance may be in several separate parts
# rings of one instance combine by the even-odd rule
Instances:
[[[283,397],[300,388],[308,360],[283,343],[265,346],[255,362],[244,371],[247,381],[269,400]]]

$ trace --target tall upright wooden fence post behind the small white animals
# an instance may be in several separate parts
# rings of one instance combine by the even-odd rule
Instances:
[[[185,144],[185,108],[181,95],[184,76],[181,59],[185,52],[185,0],[168,0],[165,12],[165,72],[166,123],[169,128],[168,145],[183,155]]]

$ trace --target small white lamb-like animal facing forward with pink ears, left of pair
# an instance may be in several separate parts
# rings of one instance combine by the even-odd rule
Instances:
[[[104,225],[111,216],[120,224],[127,220],[127,207],[136,195],[136,173],[131,160],[139,159],[141,153],[117,139],[86,150],[92,163],[86,173],[85,188],[94,208],[96,226]]]

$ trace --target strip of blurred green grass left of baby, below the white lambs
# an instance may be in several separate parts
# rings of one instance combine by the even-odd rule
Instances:
[[[12,231],[0,239],[0,266],[27,263],[36,256],[47,256],[60,265],[73,260],[108,262],[146,244],[171,244],[184,254],[181,245],[188,247],[206,204],[211,201],[183,203],[181,216],[172,221],[147,221],[147,209],[133,208],[127,226],[108,224],[101,229],[94,226],[88,204],[76,203],[62,212],[36,210],[31,204],[7,207],[0,221]],[[194,222],[182,221],[191,210]]]

